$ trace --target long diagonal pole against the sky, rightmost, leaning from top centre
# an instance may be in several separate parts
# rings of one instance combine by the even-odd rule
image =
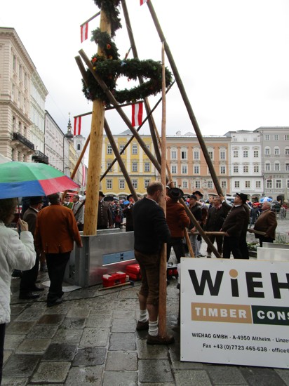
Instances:
[[[197,136],[197,138],[199,140],[199,144],[200,144],[201,149],[203,151],[203,156],[206,159],[206,162],[207,162],[207,165],[208,165],[208,168],[209,168],[209,171],[210,171],[210,175],[211,175],[211,177],[213,179],[215,188],[217,190],[217,193],[221,194],[223,196],[222,188],[220,186],[219,180],[217,179],[217,174],[215,173],[213,162],[210,159],[210,156],[208,154],[208,149],[206,147],[205,141],[203,140],[203,135],[201,134],[201,130],[199,128],[199,124],[196,121],[196,117],[194,116],[193,109],[191,108],[191,104],[189,102],[189,98],[187,97],[187,93],[186,93],[186,91],[184,89],[184,84],[182,83],[182,79],[180,78],[180,74],[179,74],[179,72],[177,70],[177,66],[175,65],[175,60],[173,59],[173,55],[170,52],[170,48],[169,48],[169,46],[168,46],[168,44],[166,42],[166,38],[165,38],[165,36],[163,34],[163,31],[161,30],[161,26],[159,25],[159,20],[156,17],[156,13],[154,12],[154,7],[152,6],[152,0],[151,1],[147,1],[147,6],[149,8],[149,12],[152,15],[152,19],[154,21],[154,25],[156,27],[156,30],[157,30],[157,32],[159,34],[159,38],[165,44],[165,51],[166,51],[166,55],[168,57],[168,61],[170,62],[170,67],[171,67],[171,69],[173,71],[173,74],[175,76],[175,80],[177,82],[177,86],[179,87],[180,93],[182,95],[182,99],[184,100],[184,105],[187,107],[187,112],[189,114],[189,118],[191,119],[191,123],[194,126],[194,131],[195,131],[196,136]]]

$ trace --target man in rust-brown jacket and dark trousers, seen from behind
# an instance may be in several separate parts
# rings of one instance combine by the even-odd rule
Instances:
[[[47,306],[62,302],[62,280],[74,241],[81,247],[81,237],[71,209],[62,206],[60,194],[48,196],[50,206],[37,215],[34,235],[36,249],[45,253],[51,285],[47,295]]]

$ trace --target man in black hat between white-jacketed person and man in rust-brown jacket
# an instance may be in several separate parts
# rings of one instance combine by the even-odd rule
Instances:
[[[42,208],[43,197],[29,197],[29,202],[30,205],[23,215],[23,220],[28,223],[29,232],[31,232],[34,237],[37,213]],[[29,269],[28,271],[22,272],[19,292],[20,299],[31,300],[39,298],[39,295],[33,292],[39,292],[44,290],[44,288],[39,288],[35,284],[39,270],[39,257],[40,254],[36,251],[36,260],[34,267],[32,269]]]

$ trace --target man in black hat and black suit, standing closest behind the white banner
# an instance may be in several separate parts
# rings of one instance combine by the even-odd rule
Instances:
[[[223,198],[223,197],[222,197]],[[222,232],[224,234],[224,244],[223,244],[223,258],[229,259],[231,253],[234,256],[234,259],[243,259],[241,253],[240,241],[241,234],[245,227],[246,222],[248,221],[248,215],[244,204],[246,204],[247,195],[243,193],[237,193],[234,199],[234,205],[229,211],[227,217],[224,220],[222,226]],[[246,227],[248,226],[248,222]]]

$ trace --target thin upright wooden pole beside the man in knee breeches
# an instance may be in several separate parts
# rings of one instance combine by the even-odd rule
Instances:
[[[163,184],[163,193],[161,194],[161,207],[166,213],[166,73],[165,73],[165,49],[161,49],[162,65],[162,119],[161,119],[161,183]],[[160,272],[159,272],[159,336],[163,338],[166,335],[166,244],[161,248]]]

